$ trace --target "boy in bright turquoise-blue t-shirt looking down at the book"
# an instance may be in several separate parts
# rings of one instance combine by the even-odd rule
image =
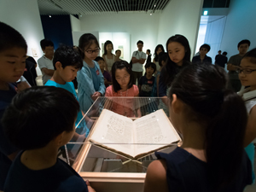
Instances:
[[[69,92],[73,93],[73,96],[78,100],[78,96],[72,80],[75,79],[77,72],[83,67],[83,61],[79,55],[79,52],[73,48],[61,46],[55,51],[53,63],[55,73],[53,74],[52,78],[49,79],[44,85],[60,87],[68,90]],[[83,142],[85,139],[83,137],[84,133],[87,137],[90,130],[85,125],[84,119],[82,121],[81,119],[83,119],[83,114],[81,111],[79,111],[77,120],[75,122],[75,125],[79,126],[76,129],[73,140]]]

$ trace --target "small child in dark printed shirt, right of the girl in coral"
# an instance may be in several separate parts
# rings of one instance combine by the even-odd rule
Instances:
[[[138,88],[140,91],[139,96],[152,96],[152,89],[154,85],[154,72],[156,71],[156,65],[154,62],[148,62],[145,65],[146,73],[138,82]]]

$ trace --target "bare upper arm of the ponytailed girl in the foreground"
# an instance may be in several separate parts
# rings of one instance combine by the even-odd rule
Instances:
[[[144,183],[144,192],[167,192],[166,162],[164,160],[154,160],[148,166]]]

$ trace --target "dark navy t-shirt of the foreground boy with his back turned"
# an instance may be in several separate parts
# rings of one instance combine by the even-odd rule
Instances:
[[[21,154],[9,169],[5,192],[88,192],[84,179],[63,160],[57,158],[54,166],[35,171],[21,163]]]

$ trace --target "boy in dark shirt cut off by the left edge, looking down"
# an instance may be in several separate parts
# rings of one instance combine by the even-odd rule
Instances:
[[[9,106],[16,95],[15,82],[20,79],[26,67],[26,41],[11,26],[0,22],[0,119],[5,108]],[[0,190],[9,172],[12,161],[18,154],[15,148],[3,134],[0,122]]]

